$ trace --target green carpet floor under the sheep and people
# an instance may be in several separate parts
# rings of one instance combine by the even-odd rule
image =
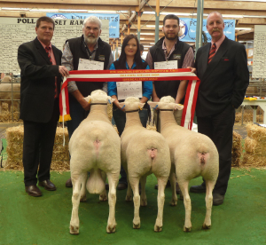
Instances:
[[[117,192],[116,232],[106,233],[108,202],[98,195],[87,195],[79,209],[80,234],[69,233],[72,189],[65,187],[69,172],[51,172],[55,192],[43,190],[42,197],[25,193],[23,173],[0,170],[0,244],[192,244],[234,245],[266,244],[266,170],[232,170],[228,193],[223,205],[213,207],[212,227],[202,230],[205,195],[191,194],[192,232],[184,233],[184,203],[169,206],[170,189],[166,190],[164,222],[161,233],[153,232],[157,216],[156,178],[147,179],[148,206],[141,207],[141,228],[132,228],[133,202],[125,202],[126,191]],[[201,179],[193,179],[198,185]]]

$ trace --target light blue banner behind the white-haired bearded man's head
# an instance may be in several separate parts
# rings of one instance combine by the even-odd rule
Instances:
[[[120,37],[120,15],[116,13],[81,13],[81,12],[47,12],[46,16],[51,19],[73,19],[73,20],[85,20],[90,15],[97,16],[99,20],[109,20],[109,37],[119,38]]]

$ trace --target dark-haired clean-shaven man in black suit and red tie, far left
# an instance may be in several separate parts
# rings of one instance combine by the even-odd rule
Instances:
[[[23,43],[18,50],[21,69],[20,118],[24,123],[23,166],[27,194],[41,196],[36,186],[56,190],[50,181],[51,156],[59,121],[62,52],[51,45],[54,21],[46,16],[36,21],[34,41]],[[39,170],[38,170],[39,167]]]

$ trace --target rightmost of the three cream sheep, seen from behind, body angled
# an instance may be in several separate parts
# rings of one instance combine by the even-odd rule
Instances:
[[[160,102],[148,102],[152,107],[160,109],[160,133],[170,148],[171,162],[176,166],[176,177],[182,194],[184,194],[185,221],[184,232],[192,229],[192,203],[188,192],[189,181],[202,176],[206,181],[206,217],[202,227],[211,226],[211,211],[213,205],[213,189],[218,177],[219,158],[213,141],[206,135],[178,126],[174,109],[181,109],[170,96],[163,97]],[[175,185],[174,185],[175,187]]]

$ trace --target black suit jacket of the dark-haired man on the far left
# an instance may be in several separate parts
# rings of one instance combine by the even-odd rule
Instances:
[[[18,50],[21,69],[20,118],[36,123],[47,123],[51,119],[55,105],[55,77],[60,88],[62,52],[52,45],[56,66],[51,65],[43,45],[37,37],[34,41],[23,43]],[[59,111],[59,107],[56,108]]]

